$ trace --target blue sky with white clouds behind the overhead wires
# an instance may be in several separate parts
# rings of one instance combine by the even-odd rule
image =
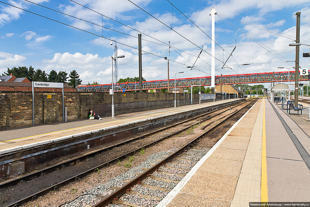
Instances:
[[[310,2],[308,0],[283,0],[281,3],[278,0],[170,1],[206,34],[187,20],[175,7],[171,8],[171,4],[166,0],[132,1],[192,43],[128,0],[76,0],[76,2],[139,32],[72,1],[33,0],[31,2],[97,25],[24,0],[3,2],[98,36],[0,3],[1,74],[8,67],[32,65],[35,69],[45,70],[47,73],[56,70],[57,72],[66,71],[69,74],[70,71],[76,70],[84,84],[93,81],[101,84],[111,83],[111,56],[114,52],[114,43],[111,46],[108,39],[113,39],[119,42],[117,43],[118,55],[125,55],[125,58],[118,60],[118,77],[138,76],[138,50],[134,48],[138,48],[137,37],[138,33],[142,32],[155,38],[152,39],[142,34],[142,50],[145,51],[143,53],[148,53],[142,55],[142,75],[146,80],[167,79],[167,61],[161,57],[168,57],[171,60],[169,62],[170,78],[180,71],[184,73],[177,74],[177,78],[208,76],[211,58],[206,52],[211,53],[211,40],[206,34],[211,36],[209,14],[212,7],[215,7],[218,12],[215,16],[215,41],[222,47],[216,45],[215,56],[218,59],[215,62],[216,75],[281,71],[277,67],[294,66],[294,62],[287,61],[295,59],[295,48],[289,47],[288,44],[293,42],[296,35],[294,14],[297,11],[301,11],[301,43],[310,44],[310,22],[308,21]],[[98,25],[134,37],[102,29]],[[170,56],[169,46],[166,45],[169,44],[168,41],[174,47],[170,48]],[[186,66],[193,65],[200,52],[200,49],[193,43],[199,47],[203,46],[206,51],[201,53],[195,64],[203,72],[186,68]],[[233,58],[230,57],[226,64],[231,69],[228,67],[221,69],[223,61],[226,61],[235,45],[237,47],[232,53]],[[309,52],[309,47],[300,47],[300,65],[303,68],[309,68],[309,58],[303,58],[303,52]]]

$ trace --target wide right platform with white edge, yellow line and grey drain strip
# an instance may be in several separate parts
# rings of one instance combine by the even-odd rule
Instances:
[[[310,137],[290,116],[261,98],[157,207],[309,202]]]

